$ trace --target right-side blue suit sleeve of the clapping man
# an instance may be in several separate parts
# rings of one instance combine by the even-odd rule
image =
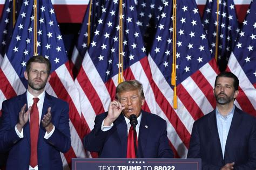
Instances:
[[[69,105],[64,103],[58,108],[60,118],[58,125],[55,125],[55,131],[52,136],[46,140],[50,145],[60,152],[68,152],[71,147],[70,130],[69,130]]]

